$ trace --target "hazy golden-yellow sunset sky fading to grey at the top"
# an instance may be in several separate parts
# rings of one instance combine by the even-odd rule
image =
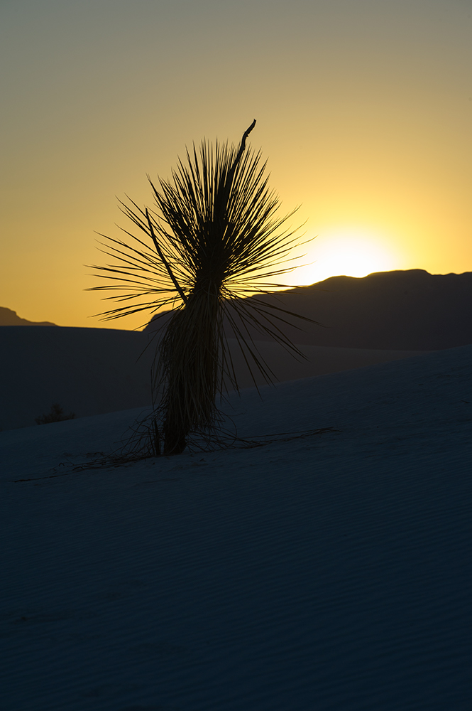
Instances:
[[[290,285],[472,271],[472,0],[1,0],[0,306],[103,323],[97,232],[203,138],[268,159]]]

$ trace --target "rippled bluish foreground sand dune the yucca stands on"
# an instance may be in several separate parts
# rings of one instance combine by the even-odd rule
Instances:
[[[336,430],[256,449],[1,432],[2,711],[468,711],[471,357],[245,390],[243,437]]]

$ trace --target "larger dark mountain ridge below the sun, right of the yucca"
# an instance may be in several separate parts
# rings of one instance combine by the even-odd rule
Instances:
[[[399,351],[436,351],[472,343],[472,272],[429,274],[408,269],[361,278],[329,277],[258,298],[322,324],[287,316],[300,326],[280,325],[294,343]],[[166,318],[158,324],[150,321],[145,331],[153,331]],[[231,337],[228,327],[227,333]],[[268,340],[256,329],[251,335]]]

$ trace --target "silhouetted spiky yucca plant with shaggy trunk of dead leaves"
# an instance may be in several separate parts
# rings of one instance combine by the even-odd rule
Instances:
[[[190,432],[214,424],[217,396],[238,388],[228,337],[236,338],[255,383],[255,369],[268,383],[273,373],[258,354],[254,328],[302,356],[282,331],[297,314],[245,298],[280,289],[268,279],[290,271],[283,265],[297,242],[294,232],[281,230],[290,215],[278,216],[260,151],[246,149],[255,124],[237,147],[193,146],[170,181],[148,177],[153,209],[121,202],[141,237],[127,230],[126,240],[101,235],[101,251],[114,263],[94,268],[111,282],[92,289],[112,291],[106,298],[124,304],[103,319],[138,311],[159,317],[172,308],[152,371],[156,453],[162,439],[163,454],[180,453]]]

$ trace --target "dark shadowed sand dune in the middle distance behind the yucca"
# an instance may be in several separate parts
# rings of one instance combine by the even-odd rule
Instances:
[[[150,403],[150,364],[155,347],[148,334],[109,328],[5,326],[0,328],[0,429],[28,427],[53,402],[77,417],[128,410]],[[253,385],[236,342],[231,342],[241,387]],[[258,342],[279,380],[349,370],[408,358],[418,351],[300,346],[297,362],[273,343]],[[143,352],[144,351],[144,352]],[[261,377],[258,385],[263,384]]]

